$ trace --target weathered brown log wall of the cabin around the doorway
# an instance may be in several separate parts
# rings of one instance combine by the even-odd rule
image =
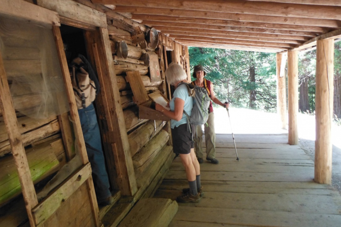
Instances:
[[[71,0],[60,0],[58,5],[68,3]],[[33,3],[33,1],[27,1]],[[38,1],[38,5],[43,5],[45,1]],[[117,107],[121,108],[123,112],[125,133],[128,138],[130,162],[132,163],[132,170],[135,174],[134,181],[136,181],[136,189],[131,189],[130,194],[120,191],[120,178],[126,176],[119,175],[117,170],[117,163],[127,162],[126,160],[120,160],[120,157],[115,153],[115,150],[105,150],[107,157],[107,164],[112,165],[112,169],[108,168],[110,183],[112,189],[116,191],[116,199],[120,199],[120,195],[132,196],[132,201],[137,201],[140,198],[149,197],[153,194],[154,189],[161,183],[163,175],[165,174],[170,162],[174,158],[172,152],[172,146],[170,139],[170,127],[167,122],[161,120],[147,120],[138,118],[138,107],[134,102],[132,90],[129,83],[125,80],[127,71],[139,71],[143,85],[147,93],[151,93],[160,90],[164,95],[169,97],[169,91],[165,82],[164,71],[167,65],[171,61],[176,61],[184,67],[187,71],[190,79],[189,70],[189,56],[188,49],[174,42],[164,34],[159,34],[159,43],[156,48],[141,48],[139,44],[133,43],[132,34],[135,31],[135,27],[139,26],[142,29],[144,36],[150,29],[142,24],[138,24],[136,21],[131,20],[124,15],[110,12],[108,8],[103,6],[94,5],[88,0],[74,1],[82,6],[87,6],[96,11],[106,14],[107,17],[107,35],[110,41],[112,57],[114,60],[116,87],[119,91],[120,102],[114,102]],[[67,5],[67,4],[66,4]],[[46,9],[50,9],[47,6],[43,6]],[[58,11],[58,9],[50,9]],[[64,16],[64,15],[62,15]],[[93,15],[92,15],[93,16]],[[72,21],[67,18],[63,18],[63,21],[68,25],[78,25],[76,21]],[[86,30],[93,30],[90,27],[84,27]],[[91,31],[85,32],[85,39],[91,40]],[[122,41],[127,44],[128,55],[126,58],[122,56],[119,44]],[[91,53],[91,46],[88,43],[87,51]],[[167,51],[172,52],[172,60],[165,59]],[[23,50],[24,51],[24,50]],[[89,57],[93,63],[94,68],[96,66],[95,59],[92,57],[93,53]],[[27,56],[27,55],[25,55]],[[31,56],[31,55],[29,55]],[[148,58],[149,56],[149,58]],[[155,57],[156,56],[156,57]],[[6,60],[10,59],[8,56]],[[150,59],[157,59],[158,67],[160,70],[160,80],[151,80],[150,77]],[[155,63],[155,61],[153,62]],[[29,67],[30,64],[26,64],[23,67]],[[11,80],[9,80],[11,84]],[[99,100],[98,100],[99,99]],[[96,104],[98,106],[98,115],[101,119],[101,109],[103,109],[103,101],[98,98]],[[28,97],[26,105],[31,105],[32,99]],[[27,154],[28,162],[30,165],[32,180],[36,189],[42,188],[49,179],[67,162],[69,162],[75,155],[74,151],[74,134],[72,133],[72,125],[69,122],[68,114],[62,114],[58,116],[52,116],[48,119],[34,120],[24,114],[16,111],[18,125],[23,143],[25,146],[25,152]],[[123,119],[119,119],[123,121]],[[101,132],[105,133],[105,125],[99,121],[101,126]],[[104,127],[104,129],[103,129]],[[102,137],[109,137],[112,135],[104,135]],[[121,135],[119,135],[121,136]],[[103,140],[105,143],[106,140]],[[103,144],[104,148],[110,146]],[[111,158],[111,159],[110,159]],[[112,160],[112,159],[118,160]],[[42,161],[43,160],[43,161]],[[38,164],[37,164],[38,163]],[[11,146],[6,133],[5,124],[2,119],[2,113],[0,112],[0,166],[3,169],[0,171],[0,226],[28,226],[27,213],[22,197],[20,196],[20,184],[16,174],[16,167],[14,165],[13,158],[11,157]],[[35,174],[34,174],[35,173]],[[11,180],[8,180],[8,176],[11,176]],[[15,182],[15,183],[13,183]],[[87,196],[86,188],[81,189],[73,196],[74,199]],[[88,200],[86,200],[88,201]],[[134,205],[134,202],[129,202],[130,206]],[[86,204],[84,204],[86,207]],[[72,204],[68,204],[67,210],[72,210]],[[85,209],[85,208],[83,208]],[[128,210],[129,211],[129,210]],[[128,212],[126,211],[126,212]],[[59,213],[59,215],[68,215],[67,212]],[[101,213],[101,218],[104,218],[104,213]],[[112,222],[119,222],[120,218],[113,220]],[[48,220],[47,223],[53,223],[53,217]],[[110,223],[110,225],[114,225]]]

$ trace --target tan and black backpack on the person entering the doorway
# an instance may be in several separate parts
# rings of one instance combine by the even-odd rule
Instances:
[[[88,60],[81,54],[70,64],[77,109],[87,108],[99,92],[99,82]]]

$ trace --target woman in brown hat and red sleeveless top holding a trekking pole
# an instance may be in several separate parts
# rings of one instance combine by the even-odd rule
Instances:
[[[210,161],[213,164],[218,164],[219,161],[216,159],[216,132],[214,131],[214,114],[213,114],[213,105],[212,101],[218,105],[221,105],[224,108],[228,108],[228,103],[222,103],[219,99],[214,95],[213,84],[211,81],[206,80],[204,77],[206,76],[206,72],[203,66],[197,65],[194,66],[193,77],[196,79],[192,82],[193,85],[204,87],[207,90],[209,97],[211,98],[210,106],[208,109],[208,120],[207,124],[204,124],[205,131],[205,143],[206,143],[206,160]],[[196,127],[196,136],[194,137],[194,146],[196,151],[196,157],[199,163],[203,163],[203,130],[202,126],[198,125]]]

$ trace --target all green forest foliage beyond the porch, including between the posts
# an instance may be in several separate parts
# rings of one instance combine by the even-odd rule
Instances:
[[[192,72],[195,65],[204,66],[206,78],[213,82],[219,100],[229,100],[234,107],[249,107],[253,93],[256,97],[253,108],[276,111],[276,54],[198,47],[189,47],[189,54]],[[313,113],[316,50],[300,52],[298,57],[299,83],[308,84],[308,90],[300,92],[308,93],[305,97]],[[252,68],[254,82],[250,80]],[[335,78],[341,76],[341,42],[335,43],[334,72]]]

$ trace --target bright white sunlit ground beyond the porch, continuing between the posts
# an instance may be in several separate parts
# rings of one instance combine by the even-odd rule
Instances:
[[[214,108],[214,122],[216,133],[234,134],[273,134],[287,133],[281,129],[280,118],[276,113],[266,113],[243,108],[229,108],[229,115],[224,108]],[[298,135],[299,138],[315,141],[315,116],[298,114]],[[332,143],[341,148],[341,126],[332,124]]]

